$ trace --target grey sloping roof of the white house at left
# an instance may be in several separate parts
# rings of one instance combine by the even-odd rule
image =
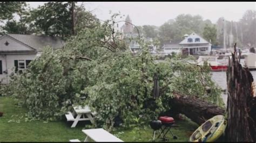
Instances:
[[[64,46],[64,41],[59,38],[38,36],[38,35],[25,35],[25,34],[6,34],[10,37],[22,42],[29,47],[36,49],[38,52],[43,51],[43,47],[51,46],[53,49]]]

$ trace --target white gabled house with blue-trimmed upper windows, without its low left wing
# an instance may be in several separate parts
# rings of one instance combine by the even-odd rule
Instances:
[[[190,55],[210,54],[212,46],[210,42],[206,41],[204,38],[201,38],[194,32],[188,35],[188,37],[185,37],[185,39],[182,40],[179,45],[183,51]]]

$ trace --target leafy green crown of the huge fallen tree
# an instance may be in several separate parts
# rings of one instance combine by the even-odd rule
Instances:
[[[63,49],[46,48],[23,74],[14,76],[4,94],[19,99],[29,109],[28,116],[36,119],[57,119],[72,104],[87,104],[97,111],[95,125],[110,129],[116,117],[129,126],[134,119],[148,121],[176,108],[169,104],[173,91],[224,105],[208,66],[198,67],[179,56],[156,62],[149,51],[154,43],[141,38],[133,39],[140,53],[125,51],[125,42],[112,28],[116,16],[85,28]],[[154,75],[159,80],[157,98],[152,96]]]

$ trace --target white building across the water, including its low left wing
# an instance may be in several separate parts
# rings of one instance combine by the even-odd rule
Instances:
[[[189,55],[204,55],[211,53],[211,44],[198,34],[185,34],[181,41],[171,41],[163,46],[165,55],[175,53],[185,53]]]

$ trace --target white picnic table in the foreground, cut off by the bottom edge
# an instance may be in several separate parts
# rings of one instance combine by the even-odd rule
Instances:
[[[120,140],[113,134],[107,132],[103,128],[93,128],[93,129],[87,129],[82,130],[83,133],[87,135],[84,142],[88,142],[89,139],[96,141],[96,142],[124,142],[123,140]],[[78,139],[69,140],[70,142],[80,142]]]

